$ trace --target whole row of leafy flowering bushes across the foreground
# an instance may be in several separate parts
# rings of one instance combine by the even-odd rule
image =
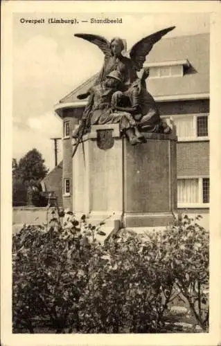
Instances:
[[[179,217],[162,233],[121,230],[100,245],[100,225],[71,214],[61,226],[53,211],[47,227],[13,236],[15,332],[33,333],[36,320],[57,333],[165,332],[177,295],[207,331],[209,234],[195,220]]]

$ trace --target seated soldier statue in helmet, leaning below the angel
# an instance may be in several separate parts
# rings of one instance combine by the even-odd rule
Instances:
[[[127,135],[132,145],[145,141],[143,135],[139,132],[132,113],[112,107],[116,92],[120,91],[122,87],[121,73],[112,71],[103,82],[89,90],[89,101],[85,107],[82,122],[73,133],[73,138],[79,137],[79,131],[82,127],[89,129],[91,125],[119,123],[121,132]]]

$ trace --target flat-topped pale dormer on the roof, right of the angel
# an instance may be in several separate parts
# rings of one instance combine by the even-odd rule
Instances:
[[[173,62],[154,62],[146,63],[144,68],[150,69],[149,78],[168,78],[168,77],[182,77],[184,75],[184,68],[190,66],[188,60],[178,60]]]

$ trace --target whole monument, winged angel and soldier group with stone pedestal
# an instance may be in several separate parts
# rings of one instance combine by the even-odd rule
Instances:
[[[173,30],[166,28],[134,44],[115,37],[76,34],[105,54],[94,86],[73,131],[73,210],[110,228],[167,226],[177,208],[176,142],[173,125],[161,120],[147,90],[146,56]],[[141,71],[141,77],[137,73]]]

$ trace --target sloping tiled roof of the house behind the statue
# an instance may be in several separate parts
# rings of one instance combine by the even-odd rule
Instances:
[[[150,51],[147,62],[184,60],[188,60],[191,66],[183,76],[147,80],[148,91],[154,97],[209,94],[209,33],[161,39]],[[77,95],[85,93],[94,84],[96,75],[71,91],[60,103],[79,102]]]

